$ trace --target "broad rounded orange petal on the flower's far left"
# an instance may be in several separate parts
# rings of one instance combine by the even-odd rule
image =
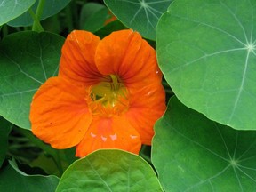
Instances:
[[[84,90],[60,77],[48,79],[31,103],[29,117],[36,137],[53,148],[76,146],[92,122]]]

